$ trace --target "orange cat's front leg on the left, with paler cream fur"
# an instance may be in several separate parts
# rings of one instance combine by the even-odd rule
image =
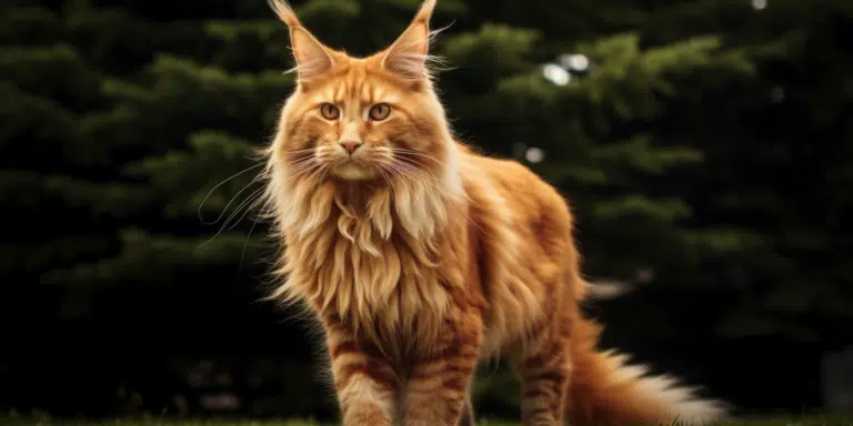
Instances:
[[[327,336],[343,425],[391,426],[399,390],[394,368],[340,327],[327,327]]]

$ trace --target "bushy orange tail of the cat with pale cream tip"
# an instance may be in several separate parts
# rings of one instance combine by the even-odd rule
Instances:
[[[726,416],[727,404],[701,399],[675,378],[650,376],[646,367],[629,365],[626,355],[599,351],[600,333],[600,325],[581,320],[573,334],[571,425],[701,425]]]

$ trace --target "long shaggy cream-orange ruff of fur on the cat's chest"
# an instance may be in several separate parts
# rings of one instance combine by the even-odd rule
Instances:
[[[321,211],[288,232],[290,292],[358,337],[383,345],[429,341],[450,298],[434,235],[413,235],[382,193],[337,194],[331,204],[314,205]]]

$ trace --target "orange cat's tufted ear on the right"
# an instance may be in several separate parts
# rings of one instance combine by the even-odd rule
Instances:
[[[382,65],[385,70],[413,80],[429,78],[426,59],[430,51],[430,18],[435,0],[426,0],[409,28],[385,50]]]

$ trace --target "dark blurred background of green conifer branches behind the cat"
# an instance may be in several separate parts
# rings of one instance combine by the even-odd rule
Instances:
[[[293,1],[352,54],[419,2]],[[440,0],[448,24],[460,138],[558,185],[585,273],[632,288],[585,306],[606,346],[743,413],[853,412],[853,2]],[[0,413],[335,415],[310,323],[260,302],[251,154],[291,65],[263,0],[2,2]],[[518,416],[504,365],[476,402]]]

